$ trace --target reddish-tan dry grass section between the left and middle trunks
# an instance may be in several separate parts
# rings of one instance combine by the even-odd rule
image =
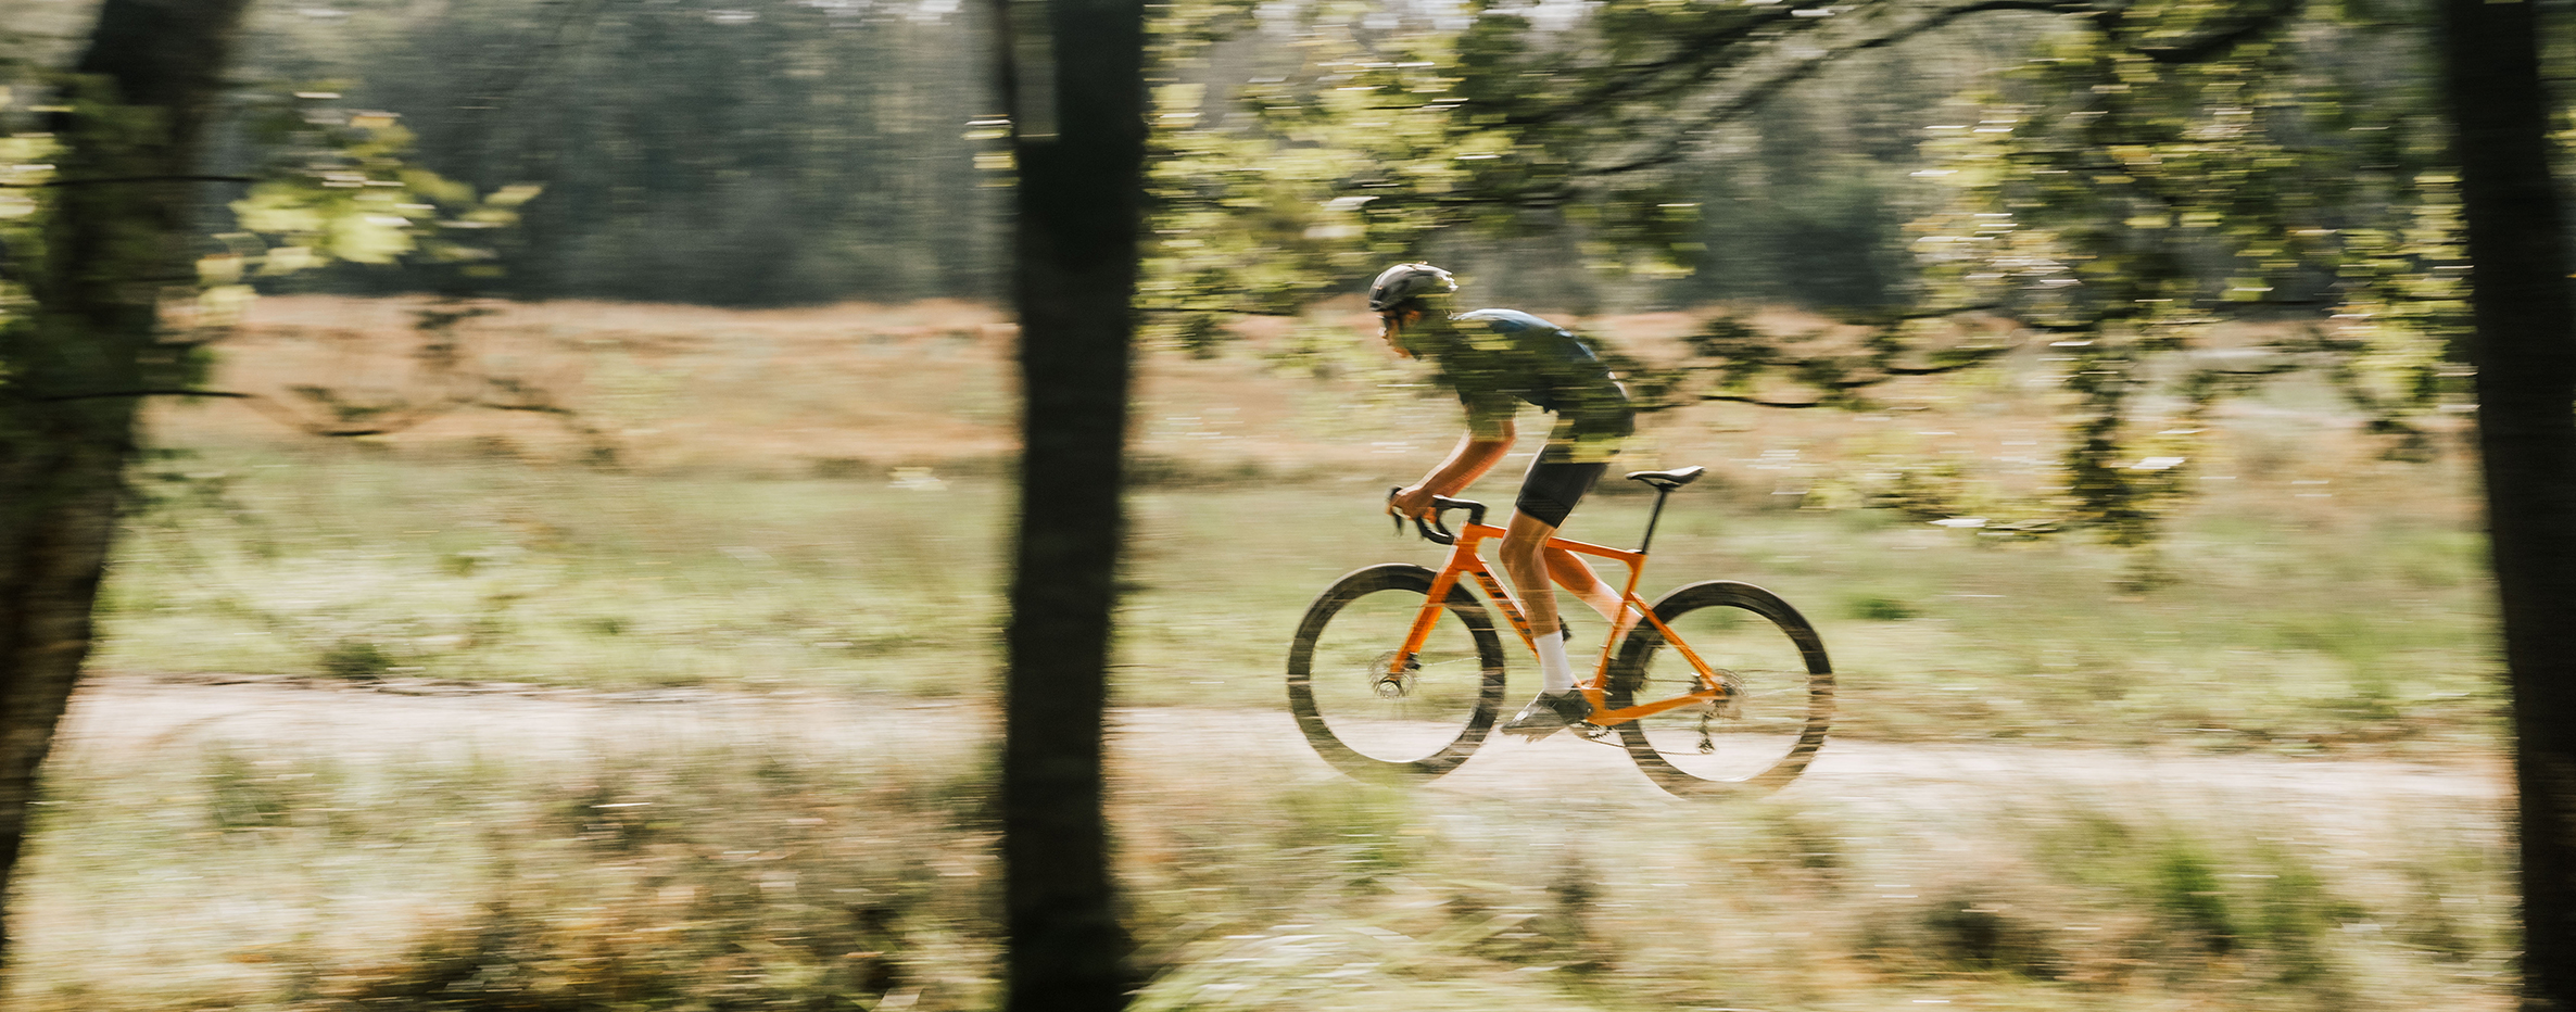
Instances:
[[[523,402],[536,391],[639,469],[811,469],[994,458],[1010,451],[1010,327],[966,304],[724,312],[634,304],[489,304],[453,327],[456,376],[425,371],[415,299],[263,299],[222,345],[214,384],[327,420],[296,389],[345,402]],[[180,415],[183,412],[183,415]],[[240,404],[165,412],[191,438],[296,438]],[[574,461],[590,438],[556,415],[448,409],[381,438]]]

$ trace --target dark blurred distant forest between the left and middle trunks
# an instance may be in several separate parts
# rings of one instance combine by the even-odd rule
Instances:
[[[1007,196],[976,3],[353,3],[255,8],[245,75],[340,80],[410,162],[544,185],[477,291],[729,306],[989,299]],[[489,234],[448,232],[461,239]],[[453,268],[309,291],[446,291]]]

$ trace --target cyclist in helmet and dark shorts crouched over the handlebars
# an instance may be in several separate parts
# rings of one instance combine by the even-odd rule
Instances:
[[[1458,404],[1466,407],[1466,438],[1422,482],[1399,489],[1388,510],[1422,518],[1432,510],[1432,497],[1458,494],[1502,464],[1512,448],[1517,402],[1556,415],[1556,430],[1520,479],[1499,551],[1502,569],[1528,610],[1540,672],[1538,698],[1502,729],[1535,742],[1592,716],[1592,703],[1574,690],[1566,628],[1551,582],[1602,618],[1620,613],[1615,587],[1582,556],[1546,543],[1592,482],[1610,469],[1620,440],[1636,430],[1636,412],[1628,389],[1584,337],[1517,309],[1450,314],[1455,291],[1458,281],[1427,263],[1399,263],[1368,286],[1368,309],[1378,312],[1378,337],[1396,355],[1430,361],[1440,371],[1440,384],[1458,391]],[[1620,631],[1613,618],[1613,641]]]

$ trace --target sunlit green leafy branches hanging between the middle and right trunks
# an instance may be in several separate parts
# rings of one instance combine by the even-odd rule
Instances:
[[[1772,152],[1821,136],[1803,118],[1759,116],[1808,77],[1844,72],[1839,108],[1862,116],[1888,103],[1852,80],[1873,59],[1965,80],[1883,52],[1965,31],[1953,23],[1981,10],[2061,18],[1989,33],[2007,72],[1963,90],[1947,121],[1901,124],[1919,142]],[[1911,306],[1844,309],[1852,327],[1837,335],[1721,314],[1690,335],[1690,358],[1623,371],[1649,407],[1878,409],[1873,391],[1893,381],[2030,345],[1963,337],[1963,312],[2012,319],[2045,337],[2071,399],[2058,487],[1978,502],[1973,482],[1904,469],[1880,502],[1929,520],[2004,512],[1996,530],[2022,538],[2094,530],[2138,551],[2123,585],[2151,587],[2164,518],[2195,489],[2192,435],[2267,376],[2316,371],[2370,415],[2391,458],[2432,456],[2421,417],[2465,379],[2450,348],[2465,319],[2458,198],[2432,95],[2383,72],[2424,59],[2419,15],[2280,0],[1605,3],[1543,26],[1520,5],[1453,18],[1175,5],[1144,304],[1203,350],[1218,332],[1211,314],[1288,314],[1396,258],[1476,268],[1538,239],[1643,286],[1631,291],[1710,291],[1649,281],[1710,255],[1710,196],[1726,196],[1728,221],[1749,221],[1736,203],[1788,203],[1783,175],[1798,167],[1901,162],[1919,167],[1909,191],[1826,175],[1780,221],[1865,250],[1870,221],[1893,214],[1883,209],[1924,206],[1906,229],[1911,265],[1888,260],[1896,281],[1847,288]],[[1721,155],[1716,129],[1754,134],[1759,155]],[[1811,234],[1721,242],[1788,263]],[[2218,324],[2236,337],[2213,337]]]

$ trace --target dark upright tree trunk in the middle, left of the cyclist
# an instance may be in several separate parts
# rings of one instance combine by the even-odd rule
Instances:
[[[1144,3],[994,8],[1025,404],[1002,744],[1007,1007],[1121,1009],[1136,976],[1113,906],[1100,724],[1144,201]]]

